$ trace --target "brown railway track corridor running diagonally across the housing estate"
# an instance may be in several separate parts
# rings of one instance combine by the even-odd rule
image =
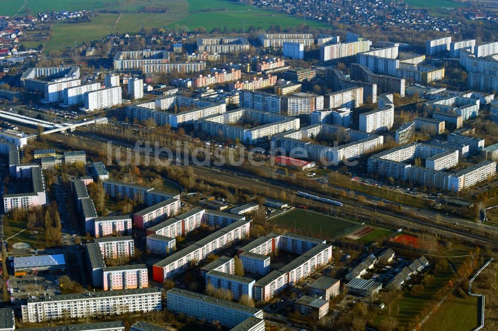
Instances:
[[[55,134],[55,136],[58,136],[60,139],[64,140],[64,135],[62,134]],[[102,138],[95,138],[95,137],[88,137],[86,134],[82,134],[79,132],[79,138],[83,139],[85,141],[85,144],[87,144],[89,147],[97,148],[97,149],[103,149],[104,144],[108,143],[108,140],[102,139]],[[119,146],[119,147],[118,147]],[[117,143],[117,145],[113,145],[113,152],[120,151],[122,153],[126,152],[126,149],[121,147],[121,146],[126,146],[126,144]],[[148,162],[149,164],[154,164],[154,157],[151,156],[146,156],[146,155],[140,155],[140,158],[144,162]],[[162,159],[161,161],[175,161],[171,159],[167,159],[164,157],[160,157]],[[175,164],[176,165],[176,164]],[[281,192],[285,192],[285,194],[288,194],[288,196],[295,196],[295,201],[298,204],[307,204],[309,202],[312,202],[315,206],[320,206],[322,208],[333,208],[336,211],[336,214],[340,213],[348,213],[348,214],[355,214],[355,213],[360,213],[360,217],[366,217],[369,219],[374,219],[374,220],[379,220],[382,222],[389,222],[393,226],[397,227],[402,227],[402,226],[410,226],[413,228],[419,228],[422,230],[431,230],[434,233],[440,234],[440,235],[452,235],[458,238],[463,238],[463,239],[472,239],[481,243],[487,243],[491,244],[495,247],[498,247],[498,241],[493,240],[490,238],[487,238],[485,236],[477,235],[474,233],[471,233],[469,231],[464,231],[461,229],[456,229],[455,227],[450,227],[442,224],[435,224],[433,222],[429,222],[429,220],[424,221],[421,219],[417,218],[411,218],[409,216],[403,215],[401,213],[394,213],[394,212],[389,212],[389,211],[377,211],[375,207],[368,206],[368,205],[362,205],[360,203],[357,203],[355,201],[351,200],[341,200],[343,203],[343,206],[335,206],[335,205],[330,205],[327,203],[323,203],[320,201],[316,200],[310,200],[306,199],[300,196],[296,195],[297,190],[302,190],[301,187],[295,187],[289,184],[285,183],[280,183],[277,182],[276,180],[268,180],[268,179],[259,179],[259,178],[249,178],[249,177],[244,177],[244,174],[233,172],[233,171],[228,171],[220,168],[211,168],[211,167],[204,167],[204,166],[199,166],[199,165],[176,165],[182,168],[187,168],[190,167],[194,174],[197,175],[200,178],[210,178],[214,180],[218,180],[220,182],[230,182],[232,184],[236,184],[240,187],[254,187],[259,190],[267,190],[269,192],[275,193],[275,194],[280,194]],[[330,198],[326,195],[319,194],[313,192],[313,194],[318,195],[320,197],[325,197],[325,198]],[[423,215],[418,215],[419,217],[423,217]],[[428,219],[428,217],[426,216]]]

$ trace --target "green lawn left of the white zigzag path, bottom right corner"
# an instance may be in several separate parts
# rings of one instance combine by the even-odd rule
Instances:
[[[420,330],[468,331],[478,325],[477,297],[466,299],[451,296],[423,325]]]

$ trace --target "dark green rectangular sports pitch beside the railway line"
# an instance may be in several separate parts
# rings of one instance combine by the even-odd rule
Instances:
[[[353,231],[360,226],[350,221],[304,209],[294,209],[271,219],[271,222],[291,229],[295,227],[297,231],[314,236],[319,236],[321,229],[322,236],[331,239]]]

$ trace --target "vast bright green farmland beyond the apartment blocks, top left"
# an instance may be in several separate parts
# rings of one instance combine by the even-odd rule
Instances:
[[[113,31],[114,33],[138,33],[142,28],[175,28],[177,25],[186,26],[189,31],[196,28],[205,28],[211,31],[226,26],[229,31],[236,29],[255,28],[267,29],[271,24],[278,24],[282,28],[301,25],[300,18],[284,13],[252,7],[228,0],[26,0],[23,5],[19,0],[0,0],[0,13],[14,15],[34,14],[61,10],[96,10],[99,15],[92,18],[91,23],[67,24],[56,22],[52,28],[51,40],[47,44],[47,52],[74,46],[83,41],[100,39]],[[164,12],[139,12],[144,7],[164,8]],[[116,11],[108,13],[104,11]],[[209,10],[209,11],[206,11]],[[115,25],[118,13],[122,16]],[[306,21],[314,27],[328,27],[318,21]],[[38,44],[37,44],[38,45]]]

